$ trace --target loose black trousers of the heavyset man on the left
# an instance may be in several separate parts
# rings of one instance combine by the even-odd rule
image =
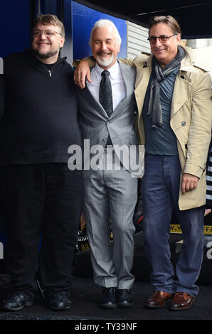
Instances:
[[[45,291],[69,290],[82,210],[81,171],[70,171],[67,163],[37,163],[1,167],[0,173],[10,288],[33,295],[39,269]]]

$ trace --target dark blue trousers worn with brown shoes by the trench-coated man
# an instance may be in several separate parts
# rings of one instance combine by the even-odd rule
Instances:
[[[142,179],[143,231],[147,256],[152,265],[154,289],[187,292],[196,296],[195,285],[203,259],[204,208],[179,210],[181,166],[178,156],[145,156]],[[176,264],[176,279],[170,260],[169,232],[175,212],[184,240]]]

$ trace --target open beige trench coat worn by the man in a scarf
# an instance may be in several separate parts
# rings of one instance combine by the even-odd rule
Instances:
[[[140,144],[144,145],[142,107],[152,72],[152,55],[148,58],[147,55],[138,55],[134,60],[123,61],[137,68],[134,91],[138,107],[137,126]],[[198,187],[186,194],[181,193],[180,187],[180,210],[198,208],[206,203],[206,160],[211,141],[211,124],[211,77],[192,63],[186,51],[174,85],[170,126],[176,135],[182,173],[193,174],[199,180]]]

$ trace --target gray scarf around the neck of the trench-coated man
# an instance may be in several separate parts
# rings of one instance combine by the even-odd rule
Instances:
[[[154,79],[150,85],[149,92],[149,105],[147,115],[152,117],[152,127],[158,128],[163,125],[162,109],[160,102],[160,85],[159,82],[163,81],[174,69],[181,63],[181,60],[185,56],[184,49],[179,45],[179,50],[176,57],[164,68],[161,68],[157,59],[152,58],[152,68],[154,69]]]

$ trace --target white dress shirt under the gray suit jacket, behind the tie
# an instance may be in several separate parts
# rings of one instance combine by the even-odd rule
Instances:
[[[100,102],[99,92],[100,81],[102,80],[102,72],[103,68],[100,68],[100,66],[96,63],[95,67],[92,68],[90,73],[90,79],[92,83],[87,82],[88,89],[98,102]],[[120,64],[117,61],[114,65],[112,65],[111,68],[108,69],[108,72],[110,72],[109,77],[112,86],[112,103],[113,110],[115,110],[120,101],[126,97],[126,87],[124,85]]]

